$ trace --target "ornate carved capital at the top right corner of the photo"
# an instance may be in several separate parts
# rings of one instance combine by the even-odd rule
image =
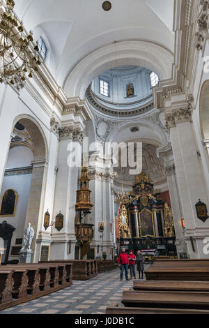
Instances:
[[[206,36],[209,29],[209,1],[201,0],[201,12],[197,20],[199,30],[196,32],[195,47],[197,50],[203,50]]]

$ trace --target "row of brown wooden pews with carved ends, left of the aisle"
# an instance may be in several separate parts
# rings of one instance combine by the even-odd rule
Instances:
[[[0,267],[0,311],[72,285],[72,263]]]

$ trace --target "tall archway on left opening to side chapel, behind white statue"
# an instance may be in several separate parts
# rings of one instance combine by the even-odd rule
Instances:
[[[17,117],[13,122],[12,135],[1,197],[6,190],[14,190],[17,199],[15,211],[0,216],[0,223],[7,219],[8,224],[15,228],[11,247],[7,250],[9,262],[19,260],[24,228],[29,222],[35,231],[31,247],[33,253],[36,251],[36,234],[39,218],[42,217],[41,200],[47,171],[47,142],[36,120],[26,115]]]

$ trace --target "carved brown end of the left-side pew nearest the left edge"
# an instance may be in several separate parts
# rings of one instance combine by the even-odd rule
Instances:
[[[0,304],[8,303],[13,300],[13,274],[14,271],[6,270],[5,268],[0,271]]]

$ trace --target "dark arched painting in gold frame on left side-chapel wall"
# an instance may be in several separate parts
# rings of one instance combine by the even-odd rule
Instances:
[[[13,189],[5,191],[1,197],[0,216],[15,216],[17,193]]]

